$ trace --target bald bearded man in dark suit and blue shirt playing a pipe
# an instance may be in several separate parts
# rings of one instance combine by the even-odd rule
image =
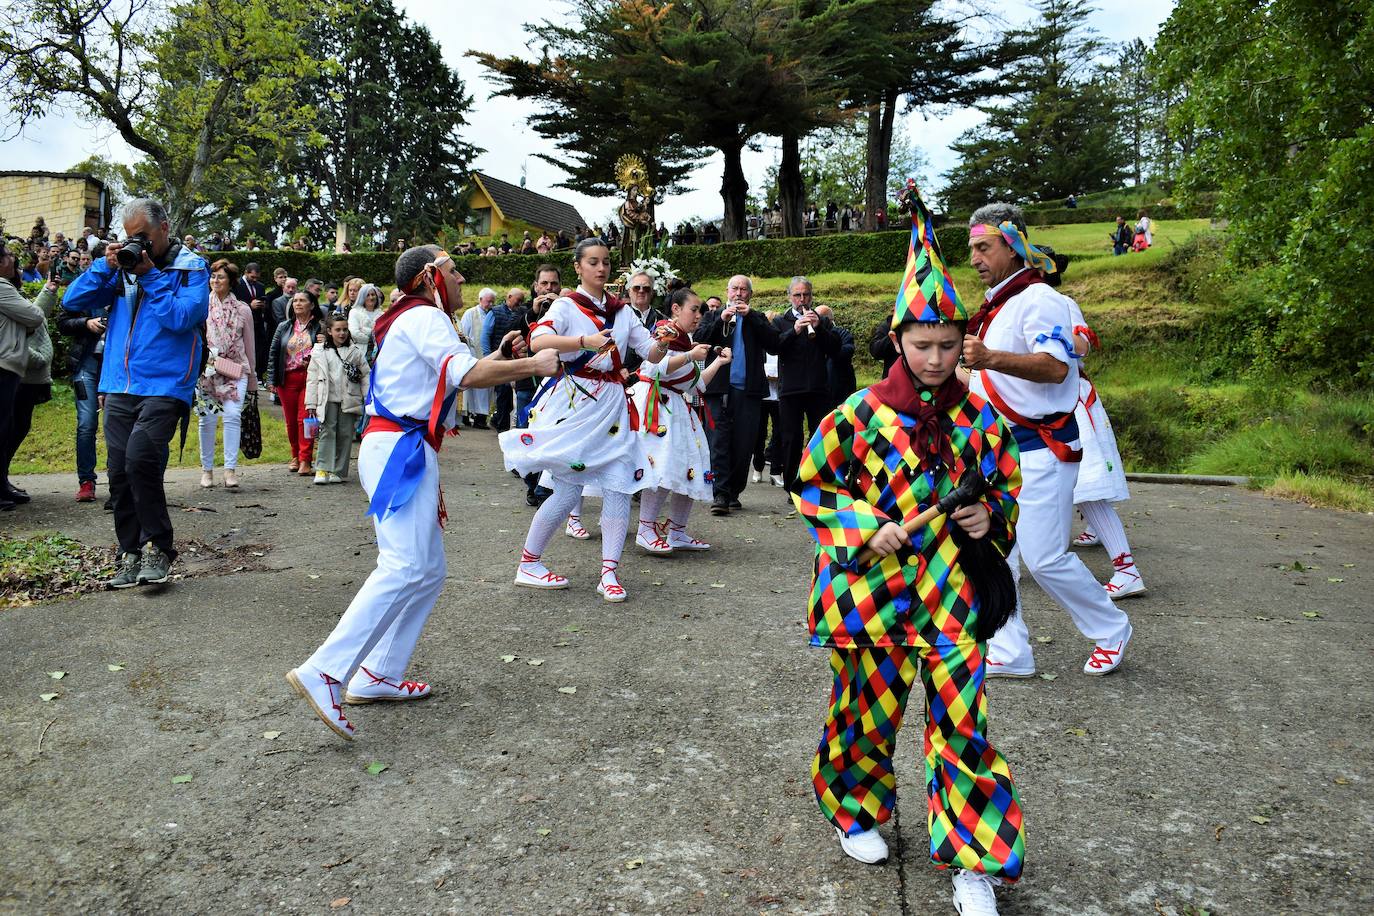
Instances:
[[[694,335],[698,342],[731,349],[730,371],[717,372],[706,386],[706,407],[716,423],[710,437],[710,466],[714,474],[712,515],[730,515],[742,508],[739,494],[749,482],[749,461],[768,394],[764,353],[778,352],[778,331],[763,312],[750,308],[754,287],[746,276],[732,276],[725,286],[727,305],[712,309]]]

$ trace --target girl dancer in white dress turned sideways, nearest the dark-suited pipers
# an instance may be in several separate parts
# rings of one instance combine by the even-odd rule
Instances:
[[[730,364],[730,350],[721,349],[714,363],[701,368],[710,347],[691,341],[705,312],[699,295],[691,288],[677,290],[668,308],[672,317],[654,325],[654,336],[665,341],[671,353],[658,364],[644,363],[633,389],[649,463],[635,544],[660,556],[710,549],[710,544],[687,534],[687,516],[692,500],[712,499],[710,446],[701,393],[720,367]],[[668,520],[660,525],[658,512],[665,501]]]

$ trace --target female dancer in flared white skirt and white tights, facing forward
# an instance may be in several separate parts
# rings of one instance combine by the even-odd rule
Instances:
[[[611,257],[605,242],[578,243],[573,268],[577,291],[556,299],[530,330],[530,349],[556,350],[562,371],[536,391],[529,427],[500,435],[507,470],[521,477],[547,471],[554,488],[530,522],[515,585],[567,588],[567,580],[541,558],[583,488],[596,486],[602,492],[596,592],[607,602],[624,602],[617,569],[629,529],[629,497],[644,486],[647,461],[638,409],[631,411],[620,368],[629,349],[658,363],[668,347],[654,341],[633,310],[606,294]]]

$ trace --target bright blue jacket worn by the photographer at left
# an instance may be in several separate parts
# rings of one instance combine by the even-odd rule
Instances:
[[[210,310],[205,258],[180,249],[165,269],[131,280],[98,258],[62,298],[67,312],[109,312],[100,393],[190,404],[201,369],[201,325]]]

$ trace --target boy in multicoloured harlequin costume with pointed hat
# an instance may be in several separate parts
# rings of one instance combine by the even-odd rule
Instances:
[[[822,422],[793,489],[816,541],[811,644],[830,648],[834,672],[811,775],[844,851],[885,861],[878,825],[896,803],[893,744],[919,683],[930,858],[956,869],[960,913],[996,913],[992,889],[1021,875],[1021,805],[987,737],[981,603],[958,541],[991,538],[1006,556],[1021,472],[1004,423],[955,375],[967,313],[925,207],[911,235],[892,317],[897,364]],[[908,534],[901,523],[966,474],[988,482],[982,500]],[[881,559],[866,562],[864,547]]]

